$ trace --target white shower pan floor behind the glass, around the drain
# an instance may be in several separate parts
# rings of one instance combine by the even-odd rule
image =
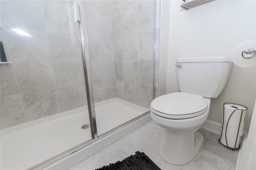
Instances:
[[[98,135],[149,111],[112,98],[95,103]],[[1,169],[28,169],[91,138],[88,108],[81,107],[1,130]]]

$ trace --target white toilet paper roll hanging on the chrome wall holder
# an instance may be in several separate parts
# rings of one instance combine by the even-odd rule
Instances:
[[[256,64],[256,55],[250,59],[245,59],[244,57],[250,57],[251,55],[244,55],[242,57],[242,52],[245,49],[252,49],[256,47],[256,41],[247,41],[240,43],[234,47],[230,53],[230,57],[234,64],[238,67],[251,67]]]

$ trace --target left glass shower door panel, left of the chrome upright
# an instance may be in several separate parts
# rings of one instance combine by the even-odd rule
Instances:
[[[1,0],[1,169],[92,139],[73,1]]]

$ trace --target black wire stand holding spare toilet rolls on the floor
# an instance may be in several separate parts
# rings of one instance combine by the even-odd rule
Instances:
[[[235,113],[235,111],[237,111],[237,110],[242,111],[242,112],[241,112],[241,116],[240,116],[240,121],[239,121],[239,126],[238,126],[238,130],[237,130],[237,134],[236,134],[236,143],[237,143],[237,139],[238,139],[238,137],[239,137],[238,134],[239,134],[239,130],[240,130],[240,125],[241,125],[241,120],[242,120],[243,111],[248,110],[248,108],[247,108],[246,106],[239,105],[239,104],[236,104],[236,103],[223,103],[223,118],[222,118],[222,126],[221,126],[220,138],[218,139],[219,142],[220,142],[220,139],[221,139],[221,137],[222,137],[222,129],[223,129],[223,124],[224,124],[224,116],[225,116],[225,115],[224,115],[224,114],[225,114],[225,112],[224,112],[224,110],[225,110],[224,106],[225,106],[226,104],[238,105],[238,106],[242,106],[242,107],[245,108],[245,109],[238,109],[238,107],[237,107],[237,109],[235,109],[235,110],[231,113],[230,117],[228,118],[228,122],[229,122],[230,118],[232,117],[233,113]],[[234,107],[234,108],[235,108],[235,107]],[[224,145],[222,142],[220,142],[220,143],[221,143],[223,146],[232,149],[233,151],[234,151],[234,150],[238,150],[238,149],[240,148],[240,144],[239,144],[238,148],[232,148],[232,147],[229,147],[229,146],[228,146],[228,141],[227,141],[227,136],[226,136],[226,134],[227,134],[227,129],[228,129],[228,128],[227,128],[227,127],[228,127],[228,122],[227,122],[227,125],[226,125],[226,131],[225,131],[225,138],[226,138],[226,144],[227,144],[227,146]],[[235,147],[236,147],[236,143],[235,143]]]

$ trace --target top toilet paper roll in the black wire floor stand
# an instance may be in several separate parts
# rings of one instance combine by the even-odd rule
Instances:
[[[236,109],[241,109],[241,110],[236,110]],[[236,111],[235,111],[236,110]],[[243,110],[243,114],[242,114],[242,110]],[[240,105],[234,105],[234,104],[225,104],[224,105],[224,121],[228,121],[229,117],[229,121],[231,123],[235,123],[237,124],[237,126],[239,125],[240,122],[240,118],[241,118],[241,114],[242,114],[242,119],[241,119],[241,123],[244,123],[244,119],[245,119],[245,115],[246,115],[246,107],[240,106]]]

